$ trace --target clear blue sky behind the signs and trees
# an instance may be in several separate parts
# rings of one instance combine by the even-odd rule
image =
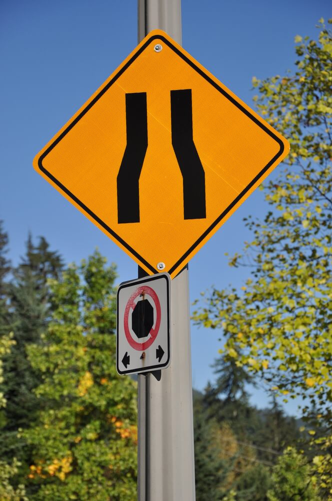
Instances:
[[[252,106],[251,78],[284,74],[295,61],[294,36],[316,37],[327,0],[182,0],[182,45]],[[43,235],[67,263],[98,247],[118,267],[118,282],[137,265],[32,168],[35,154],[137,45],[135,0],[2,0],[0,4],[0,218],[17,264],[27,232]],[[242,218],[266,210],[251,195],[189,263],[190,300],[212,284],[243,285],[247,270],[227,265],[250,238]],[[192,327],[192,381],[203,389],[218,333]],[[266,396],[253,392],[263,407]],[[290,412],[295,407],[288,407]]]

